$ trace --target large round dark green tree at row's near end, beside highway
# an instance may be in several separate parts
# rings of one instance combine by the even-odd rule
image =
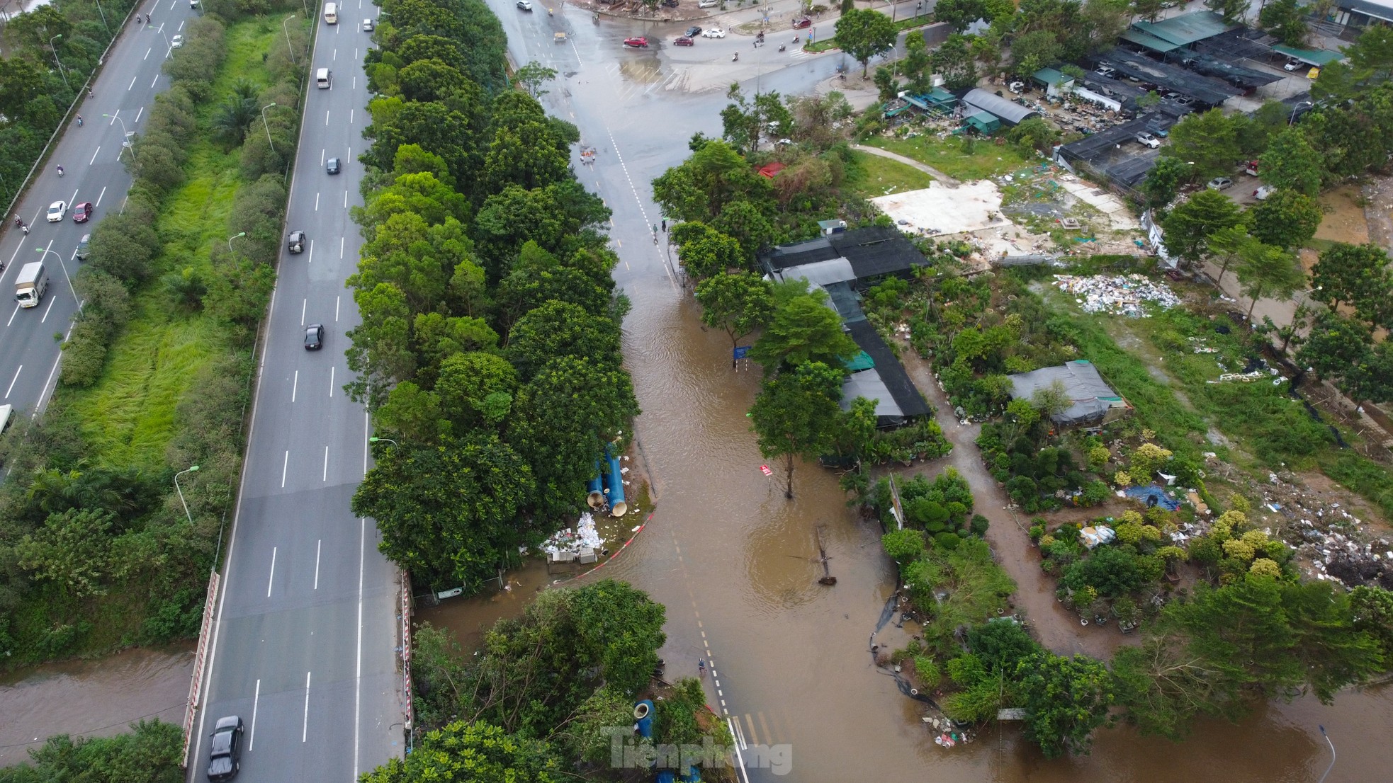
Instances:
[[[417,580],[474,592],[527,540],[521,515],[536,497],[534,471],[496,437],[375,451],[352,509],[378,520],[378,548]]]

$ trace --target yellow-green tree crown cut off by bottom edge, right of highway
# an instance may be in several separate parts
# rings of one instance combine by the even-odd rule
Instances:
[[[560,783],[566,779],[560,762],[546,743],[482,720],[456,720],[426,732],[404,759],[391,758],[364,783]]]

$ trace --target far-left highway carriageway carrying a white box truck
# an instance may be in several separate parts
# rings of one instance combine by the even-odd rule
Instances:
[[[196,15],[187,0],[160,0],[142,7],[150,25],[132,21],[111,47],[100,76],[92,85],[92,97],[78,106],[84,124],[68,125],[54,142],[53,154],[14,213],[6,216],[0,238],[0,291],[10,299],[8,313],[0,310],[0,405],[13,405],[17,416],[35,414],[49,401],[57,381],[59,344],[54,332],[67,335],[78,310],[72,275],[78,271],[77,249],[82,235],[91,234],[96,221],[110,211],[120,211],[131,188],[125,170],[123,134],[142,128],[155,95],[169,86],[160,65],[178,50],[169,47],[169,38],[178,35]],[[134,18],[134,17],[132,17]],[[61,166],[64,175],[59,177]],[[49,223],[49,204],[64,202],[67,214]],[[72,204],[91,202],[95,213],[88,223],[72,223]],[[15,228],[14,218],[29,224],[29,235]],[[49,289],[38,307],[21,309],[14,300],[14,280],[29,261],[42,260]]]

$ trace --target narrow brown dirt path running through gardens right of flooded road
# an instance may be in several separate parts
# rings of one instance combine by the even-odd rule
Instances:
[[[900,355],[914,384],[937,409],[936,420],[943,427],[943,435],[953,444],[953,452],[937,460],[933,467],[956,469],[972,488],[972,497],[976,499],[974,512],[992,523],[986,540],[992,545],[996,562],[1015,580],[1015,609],[1027,616],[1035,638],[1059,655],[1082,652],[1100,659],[1112,658],[1113,649],[1123,644],[1137,644],[1139,634],[1123,636],[1112,624],[1080,626],[1078,615],[1068,612],[1055,599],[1055,580],[1041,570],[1039,551],[1031,545],[1025,533],[1028,520],[1018,519],[1007,508],[1010,501],[1006,492],[982,465],[982,452],[976,448],[981,424],[960,424],[953,417],[953,406],[939,388],[932,367],[903,341],[900,341]]]

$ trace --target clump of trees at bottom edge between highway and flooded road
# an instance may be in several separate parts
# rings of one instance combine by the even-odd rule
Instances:
[[[543,783],[607,770],[614,737],[606,729],[632,726],[664,616],[646,594],[605,580],[539,594],[521,617],[495,623],[474,656],[446,631],[418,629],[412,675],[423,736],[404,761],[365,779]],[[657,701],[653,741],[712,737],[729,747],[724,725],[709,716],[701,683],[680,679]]]

